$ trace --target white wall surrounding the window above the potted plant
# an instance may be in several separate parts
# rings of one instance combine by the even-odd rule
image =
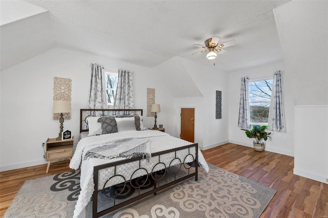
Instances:
[[[229,74],[229,141],[232,143],[253,147],[253,140],[247,138],[245,132],[238,127],[240,78],[248,76],[250,80],[273,76],[277,70],[285,71],[283,61],[263,64],[258,67],[231,72]],[[294,156],[294,98],[290,88],[289,72],[282,73],[282,91],[286,133],[272,132],[271,139],[265,142],[265,150],[283,155]]]

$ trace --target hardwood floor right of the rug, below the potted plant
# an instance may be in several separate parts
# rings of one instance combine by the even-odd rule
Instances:
[[[294,175],[293,157],[232,143],[202,153],[213,165],[277,190],[260,217],[328,217],[328,185]]]

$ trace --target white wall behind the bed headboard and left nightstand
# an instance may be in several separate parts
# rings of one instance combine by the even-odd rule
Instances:
[[[72,79],[71,119],[64,128],[72,130],[77,143],[79,109],[86,108],[90,86],[89,63],[134,72],[135,108],[144,109],[144,125],[152,127],[147,115],[147,88],[155,89],[161,104],[158,123],[165,120],[167,132],[173,132],[173,97],[149,68],[99,56],[54,48],[1,72],[1,171],[46,163],[42,142],[55,138],[59,121],[52,119],[53,78]]]

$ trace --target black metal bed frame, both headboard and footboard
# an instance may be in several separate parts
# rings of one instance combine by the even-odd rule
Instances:
[[[137,112],[141,113],[140,115],[142,115],[142,110],[110,110],[110,109],[81,109],[80,110],[80,132],[85,132],[88,131],[88,129],[83,129],[83,122],[85,121],[85,116],[83,116],[83,112],[87,112],[87,116],[90,116],[91,112],[103,112],[104,116],[111,116],[109,115],[109,112],[122,112],[124,111],[125,114],[128,114],[130,112],[133,112],[134,114],[136,114]],[[92,116],[92,115],[91,115]],[[87,122],[86,122],[87,123]],[[181,160],[180,158],[177,157],[177,152],[180,150],[184,150],[184,149],[188,149],[188,154],[185,156],[184,160]],[[167,166],[165,163],[161,162],[161,157],[163,155],[169,154],[169,153],[174,153],[174,158],[171,160],[170,165]],[[190,158],[193,159],[192,162],[186,163],[186,159],[188,156],[191,156]],[[102,164],[102,165],[98,165],[98,166],[94,166],[93,167],[93,180],[94,180],[94,192],[92,195],[92,217],[99,217],[99,216],[103,216],[107,213],[110,213],[114,210],[117,210],[121,207],[124,207],[128,204],[131,204],[137,200],[140,200],[142,198],[145,198],[151,194],[156,194],[156,192],[165,189],[169,186],[172,186],[174,184],[177,184],[183,180],[189,179],[191,177],[195,177],[195,181],[198,180],[198,144],[190,144],[190,145],[186,145],[186,146],[182,146],[182,147],[178,147],[178,148],[173,148],[173,149],[168,149],[168,150],[164,150],[164,151],[160,151],[160,152],[155,152],[151,154],[151,159],[157,159],[157,163],[153,166],[152,171],[149,172],[146,168],[141,167],[141,162],[145,161],[145,159],[143,159],[142,157],[137,157],[137,158],[131,158],[131,159],[126,159],[126,160],[121,160],[121,161],[116,161],[116,162],[111,162],[111,163],[107,163],[107,164]],[[190,159],[189,158],[189,159]],[[122,175],[120,175],[119,173],[116,172],[116,169],[118,166],[126,164],[126,163],[130,163],[130,162],[138,162],[139,164],[139,168],[137,168],[136,170],[133,171],[133,173],[130,175],[130,178],[126,178]],[[178,164],[174,164],[173,162],[178,162]],[[163,165],[162,169],[165,169],[165,172],[163,173],[164,175],[160,176],[158,178],[157,172],[154,171],[155,167],[157,165]],[[178,167],[178,170],[175,172],[171,171],[171,167],[172,166],[176,166],[176,165],[180,165]],[[183,166],[182,170],[181,170],[181,166]],[[104,184],[104,187],[98,187],[98,179],[99,179],[99,170],[104,170],[106,168],[110,168],[110,167],[114,167],[114,175],[112,175],[110,178],[108,178],[107,182]],[[195,167],[194,169],[191,169],[192,167]],[[146,176],[146,181],[144,183],[142,183],[140,186],[133,186],[132,184],[132,179],[133,175],[136,171],[138,170],[145,170],[145,176]],[[165,184],[162,184],[163,182],[163,178],[166,174],[166,172],[170,172],[171,175],[174,175],[174,180],[172,182],[168,182]],[[177,176],[177,173],[183,171],[183,173],[185,173],[185,176],[180,177]],[[124,179],[124,187],[126,186],[126,184],[130,183],[131,186],[133,186],[136,190],[137,190],[137,196],[130,198],[124,202],[116,202],[116,197],[118,197],[120,195],[120,193],[124,190],[124,188],[121,189],[121,192],[115,194],[114,196],[109,196],[106,194],[106,184],[114,177],[121,177],[122,179]],[[143,185],[145,185],[147,183],[148,180],[153,179],[154,181],[154,185],[153,188],[142,193],[142,191],[140,191],[140,189],[142,188]],[[160,182],[161,181],[161,182]],[[112,198],[113,199],[113,206],[98,211],[98,194],[99,192],[103,195],[105,195],[108,198]]]

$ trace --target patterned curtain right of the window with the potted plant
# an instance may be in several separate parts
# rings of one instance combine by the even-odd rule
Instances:
[[[274,82],[272,86],[271,105],[269,112],[269,129],[274,132],[285,133],[285,117],[282,104],[282,90],[281,90],[281,72],[276,71],[274,74]]]

